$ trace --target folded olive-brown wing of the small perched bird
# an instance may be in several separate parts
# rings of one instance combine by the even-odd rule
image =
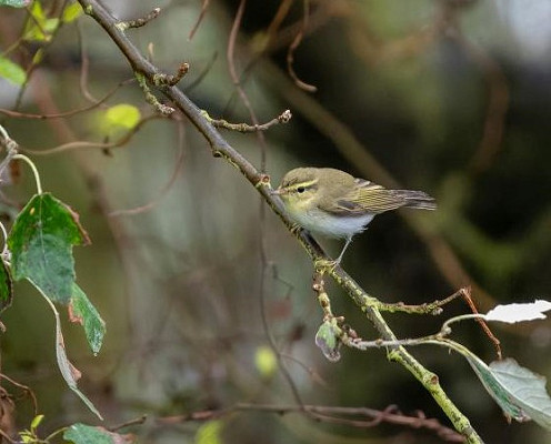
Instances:
[[[363,179],[355,179],[355,185],[352,191],[338,199],[329,211],[352,216],[365,213],[379,214],[408,203],[400,192],[397,193],[398,190],[387,190]]]

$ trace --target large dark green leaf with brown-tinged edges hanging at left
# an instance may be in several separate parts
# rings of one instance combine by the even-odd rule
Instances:
[[[8,236],[13,279],[28,279],[50,300],[67,304],[76,279],[72,245],[88,243],[77,213],[50,193],[34,195]]]

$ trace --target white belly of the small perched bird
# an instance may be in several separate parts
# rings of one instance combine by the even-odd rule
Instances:
[[[374,214],[335,216],[318,209],[304,213],[288,211],[289,216],[302,228],[328,238],[352,238],[365,230]]]

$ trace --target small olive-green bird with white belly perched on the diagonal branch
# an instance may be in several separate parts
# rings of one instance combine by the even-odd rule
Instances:
[[[435,210],[434,199],[422,191],[387,190],[333,168],[297,168],[277,190],[289,218],[300,226],[329,238],[345,239],[340,263],[354,234],[380,213],[401,206]]]

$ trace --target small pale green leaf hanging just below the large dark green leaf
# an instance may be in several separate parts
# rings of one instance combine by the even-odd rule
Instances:
[[[69,304],[69,319],[71,322],[82,324],[90,349],[92,349],[93,354],[98,354],[106,334],[106,323],[77,284],[73,284]]]

